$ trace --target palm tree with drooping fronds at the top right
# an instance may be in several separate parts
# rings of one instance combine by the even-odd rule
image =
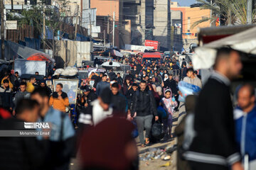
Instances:
[[[241,25],[247,23],[247,0],[198,0],[201,9],[210,9],[211,17],[206,17],[193,23],[192,28],[199,23],[216,21],[221,18],[225,25]],[[252,23],[255,23],[256,6],[252,9]]]

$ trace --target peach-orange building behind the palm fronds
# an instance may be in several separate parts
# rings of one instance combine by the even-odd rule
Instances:
[[[210,17],[209,9],[201,9],[199,7],[190,8],[189,6],[179,6],[177,2],[171,1],[171,11],[182,12],[182,38],[183,47],[187,49],[191,43],[198,43],[198,28],[206,28],[210,26],[210,21],[206,21],[193,27],[193,23],[200,21],[205,17]]]

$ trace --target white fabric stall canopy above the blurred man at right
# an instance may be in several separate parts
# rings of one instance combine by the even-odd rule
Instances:
[[[256,55],[256,27],[241,33],[210,42],[202,47],[197,47],[193,55],[194,69],[208,69],[213,66],[217,49],[231,47],[234,50]]]

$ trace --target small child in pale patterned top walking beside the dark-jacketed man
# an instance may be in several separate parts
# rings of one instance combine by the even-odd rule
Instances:
[[[174,108],[178,106],[178,103],[172,96],[170,89],[166,89],[166,91],[164,91],[164,98],[161,99],[161,102],[163,103],[164,110],[167,113],[167,118],[163,119],[164,132],[166,135],[165,138],[173,137],[171,134],[172,118],[174,115]]]

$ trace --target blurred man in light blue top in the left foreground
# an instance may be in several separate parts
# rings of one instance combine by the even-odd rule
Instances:
[[[60,85],[57,85],[60,86]],[[61,96],[61,95],[60,95]],[[52,96],[53,97],[53,96]],[[75,130],[70,118],[65,113],[51,108],[49,96],[46,89],[39,87],[31,94],[31,99],[40,105],[40,122],[50,123],[50,143],[48,145],[48,155],[43,169],[69,169],[70,157],[74,149]],[[63,100],[63,99],[55,99]],[[42,140],[41,137],[38,138]]]

